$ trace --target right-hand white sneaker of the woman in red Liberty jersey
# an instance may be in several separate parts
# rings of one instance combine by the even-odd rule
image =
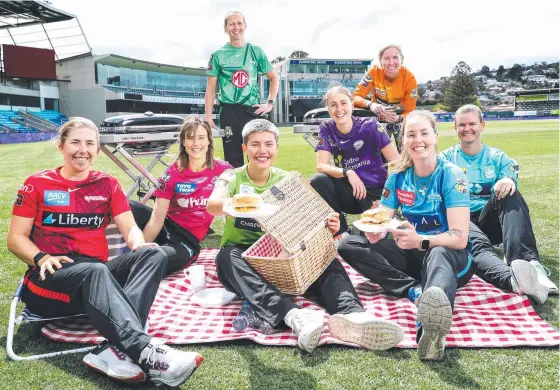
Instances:
[[[153,341],[153,340],[152,340]],[[140,354],[140,365],[156,386],[181,386],[204,358],[196,352],[183,352],[167,345],[149,344]]]

